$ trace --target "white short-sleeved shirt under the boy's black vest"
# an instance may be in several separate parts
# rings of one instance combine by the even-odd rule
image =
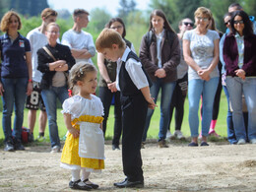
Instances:
[[[116,89],[120,91],[119,87],[119,73],[123,62],[126,62],[125,69],[127,70],[131,80],[133,81],[134,85],[137,87],[138,90],[142,88],[148,87],[149,82],[145,73],[142,70],[141,62],[136,61],[133,58],[129,58],[127,61],[127,56],[131,49],[126,46],[126,49],[121,58],[117,60],[117,69],[116,69]]]

